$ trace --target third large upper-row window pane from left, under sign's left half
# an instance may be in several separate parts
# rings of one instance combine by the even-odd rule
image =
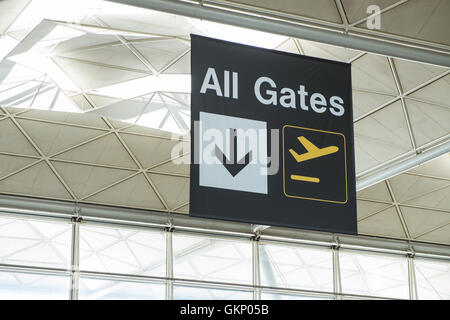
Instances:
[[[173,254],[175,278],[252,283],[250,241],[174,233]]]

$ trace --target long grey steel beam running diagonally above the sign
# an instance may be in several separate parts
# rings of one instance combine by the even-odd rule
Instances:
[[[295,24],[288,21],[269,19],[263,16],[258,17],[211,6],[206,7],[197,3],[184,1],[110,1],[248,29],[277,33],[289,37],[316,41],[355,50],[362,50],[385,56],[450,67],[450,56],[448,53],[427,50],[425,48],[401,44],[399,42],[394,43],[378,39],[370,39],[367,36],[345,34],[342,33],[342,30],[331,30],[323,27],[313,27],[306,24]]]

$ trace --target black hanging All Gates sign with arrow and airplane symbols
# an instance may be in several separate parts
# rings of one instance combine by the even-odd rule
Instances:
[[[191,35],[190,215],[356,234],[350,68]]]

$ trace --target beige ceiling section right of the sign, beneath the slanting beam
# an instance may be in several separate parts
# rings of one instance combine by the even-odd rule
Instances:
[[[389,179],[411,239],[448,243],[448,235],[442,230],[447,230],[446,225],[450,223],[450,179],[444,177],[450,171],[449,157],[446,154]],[[384,181],[359,191],[357,198],[359,233],[394,238],[404,236],[399,231],[394,212],[397,217],[398,213]],[[371,201],[365,201],[366,199]],[[377,201],[386,203],[374,206],[372,203]],[[392,207],[376,211],[383,205]],[[391,223],[397,226],[394,227],[397,233],[392,230]]]

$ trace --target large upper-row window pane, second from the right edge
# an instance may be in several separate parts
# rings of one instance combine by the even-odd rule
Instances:
[[[406,257],[341,250],[339,262],[344,293],[409,298]]]

